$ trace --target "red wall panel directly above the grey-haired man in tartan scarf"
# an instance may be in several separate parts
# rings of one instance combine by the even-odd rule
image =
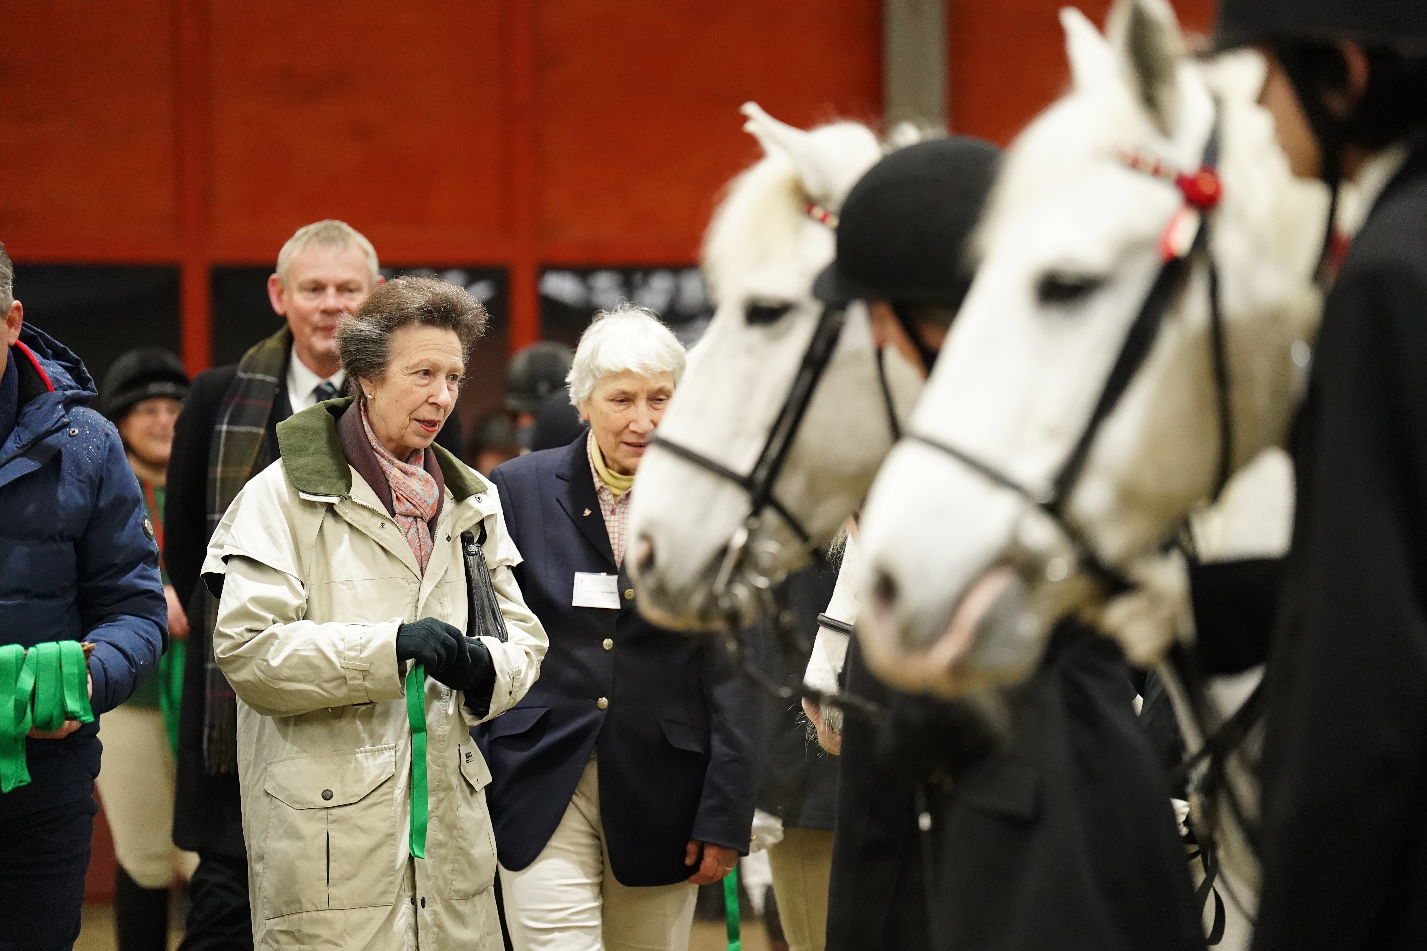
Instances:
[[[509,225],[499,20],[462,0],[215,0],[215,257],[273,259],[328,217],[392,262],[489,252]]]

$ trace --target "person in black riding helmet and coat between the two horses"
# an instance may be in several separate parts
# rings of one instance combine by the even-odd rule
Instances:
[[[849,192],[838,259],[813,285],[831,305],[863,301],[878,345],[923,374],[970,288],[997,154],[966,138],[892,153]],[[845,689],[890,716],[843,720],[828,951],[1203,947],[1113,642],[1057,624],[1040,667],[1005,694],[1009,740],[972,703],[878,683],[855,642]]]

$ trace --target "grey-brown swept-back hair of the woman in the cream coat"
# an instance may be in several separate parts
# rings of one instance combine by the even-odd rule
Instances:
[[[391,359],[391,335],[410,324],[452,331],[461,355],[485,334],[485,308],[465,288],[440,278],[397,278],[377,287],[357,312],[337,324],[337,359],[348,388],[357,381],[381,379]]]

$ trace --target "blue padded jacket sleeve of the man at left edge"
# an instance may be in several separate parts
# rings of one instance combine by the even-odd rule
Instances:
[[[83,637],[96,644],[88,664],[94,713],[127,700],[154,672],[168,624],[158,548],[144,529],[138,480],[118,433],[106,429],[94,505],[76,552]]]

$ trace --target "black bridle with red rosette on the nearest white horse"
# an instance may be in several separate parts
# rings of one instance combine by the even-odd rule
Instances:
[[[1086,575],[1095,577],[1112,595],[1123,593],[1134,585],[1120,569],[1107,565],[1099,557],[1095,548],[1085,538],[1085,532],[1067,515],[1066,506],[1080,480],[1086,459],[1095,446],[1100,428],[1109,419],[1110,413],[1114,412],[1114,408],[1134,381],[1136,374],[1144,365],[1159,336],[1160,325],[1164,322],[1164,314],[1169,312],[1170,305],[1184,287],[1197,257],[1203,257],[1209,267],[1210,348],[1213,351],[1216,409],[1219,418],[1219,463],[1213,498],[1217,498],[1223,490],[1233,465],[1229,354],[1224,339],[1223,314],[1219,305],[1219,271],[1209,252],[1210,212],[1217,207],[1222,197],[1222,185],[1216,171],[1216,165],[1219,164],[1219,123],[1216,120],[1210,131],[1200,168],[1192,174],[1179,174],[1166,163],[1137,153],[1122,153],[1117,158],[1134,171],[1153,175],[1174,185],[1183,195],[1184,202],[1176,210],[1174,217],[1160,238],[1163,264],[1154,278],[1154,284],[1150,285],[1149,294],[1140,305],[1139,314],[1124,335],[1124,342],[1120,345],[1120,352],[1110,366],[1110,372],[1100,389],[1100,396],[1095,402],[1095,409],[1090,412],[1085,429],[1082,429],[1079,439],[1076,439],[1075,446],[1049,486],[1043,490],[1032,489],[1007,475],[999,466],[965,452],[943,439],[910,429],[906,432],[906,439],[952,456],[968,469],[972,469],[989,482],[1015,492],[1035,509],[1049,515],[1070,543],[1079,567]],[[1186,224],[1193,230],[1186,227]]]

